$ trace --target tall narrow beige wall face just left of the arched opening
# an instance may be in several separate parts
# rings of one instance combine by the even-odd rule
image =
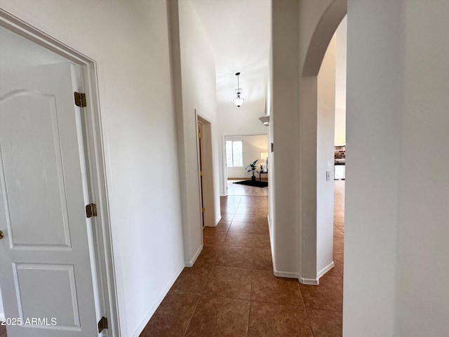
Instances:
[[[272,253],[275,275],[285,277],[300,276],[297,11],[295,0],[272,1]]]

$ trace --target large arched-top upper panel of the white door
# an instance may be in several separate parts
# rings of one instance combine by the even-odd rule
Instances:
[[[70,247],[55,97],[15,91],[2,100],[1,120],[4,208],[11,248]],[[46,226],[30,226],[33,223]]]

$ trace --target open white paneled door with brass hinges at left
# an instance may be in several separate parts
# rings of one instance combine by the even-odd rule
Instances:
[[[0,74],[1,291],[8,337],[98,336],[76,66]]]

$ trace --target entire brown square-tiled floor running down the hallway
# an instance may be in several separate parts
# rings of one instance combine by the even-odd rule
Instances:
[[[198,260],[182,271],[140,337],[342,336],[344,181],[335,180],[335,267],[319,286],[273,275],[261,190],[222,197],[222,220],[204,228]]]

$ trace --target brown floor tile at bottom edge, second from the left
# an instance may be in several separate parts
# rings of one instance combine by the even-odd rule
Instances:
[[[248,300],[201,296],[186,336],[246,337],[249,314]]]

